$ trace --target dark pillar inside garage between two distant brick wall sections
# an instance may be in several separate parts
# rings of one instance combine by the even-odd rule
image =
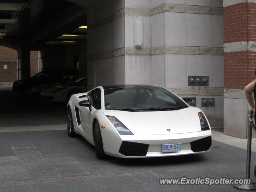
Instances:
[[[18,79],[30,77],[30,50],[20,48],[18,50]]]

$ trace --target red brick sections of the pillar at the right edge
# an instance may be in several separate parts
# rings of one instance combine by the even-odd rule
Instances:
[[[256,41],[256,4],[224,8],[224,43]],[[224,53],[224,88],[244,89],[255,79],[256,52]]]

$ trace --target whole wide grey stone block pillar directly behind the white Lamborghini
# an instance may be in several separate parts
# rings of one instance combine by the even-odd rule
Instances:
[[[142,46],[136,19],[142,18]],[[212,126],[223,126],[222,0],[103,0],[88,9],[88,84],[152,84],[196,106]],[[188,86],[209,76],[209,86]],[[214,107],[202,107],[214,97]]]

